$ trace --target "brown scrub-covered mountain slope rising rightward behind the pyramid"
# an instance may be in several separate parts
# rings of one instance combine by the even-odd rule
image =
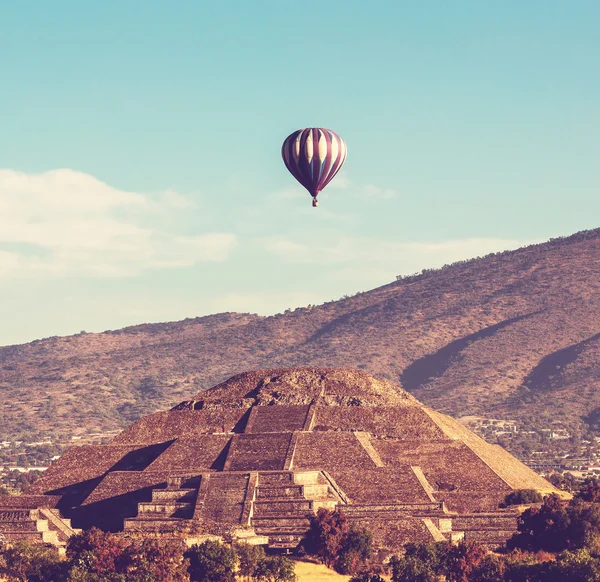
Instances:
[[[0,348],[3,434],[117,430],[249,369],[359,368],[453,416],[600,419],[600,229],[319,306]]]

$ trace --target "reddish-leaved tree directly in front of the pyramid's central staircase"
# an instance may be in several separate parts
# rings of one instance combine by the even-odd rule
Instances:
[[[348,520],[341,510],[320,508],[310,518],[310,528],[302,540],[302,547],[331,568],[342,550],[344,537],[349,530]]]

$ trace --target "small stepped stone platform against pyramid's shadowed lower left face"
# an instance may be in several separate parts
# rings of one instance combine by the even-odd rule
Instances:
[[[168,477],[167,487],[152,490],[152,500],[138,503],[136,517],[124,520],[125,531],[173,533],[189,527],[194,515],[199,476]]]

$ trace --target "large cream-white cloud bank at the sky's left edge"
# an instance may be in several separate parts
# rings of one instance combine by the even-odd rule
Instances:
[[[123,277],[227,259],[235,235],[167,226],[192,206],[177,192],[127,192],[69,169],[0,170],[0,276]]]

